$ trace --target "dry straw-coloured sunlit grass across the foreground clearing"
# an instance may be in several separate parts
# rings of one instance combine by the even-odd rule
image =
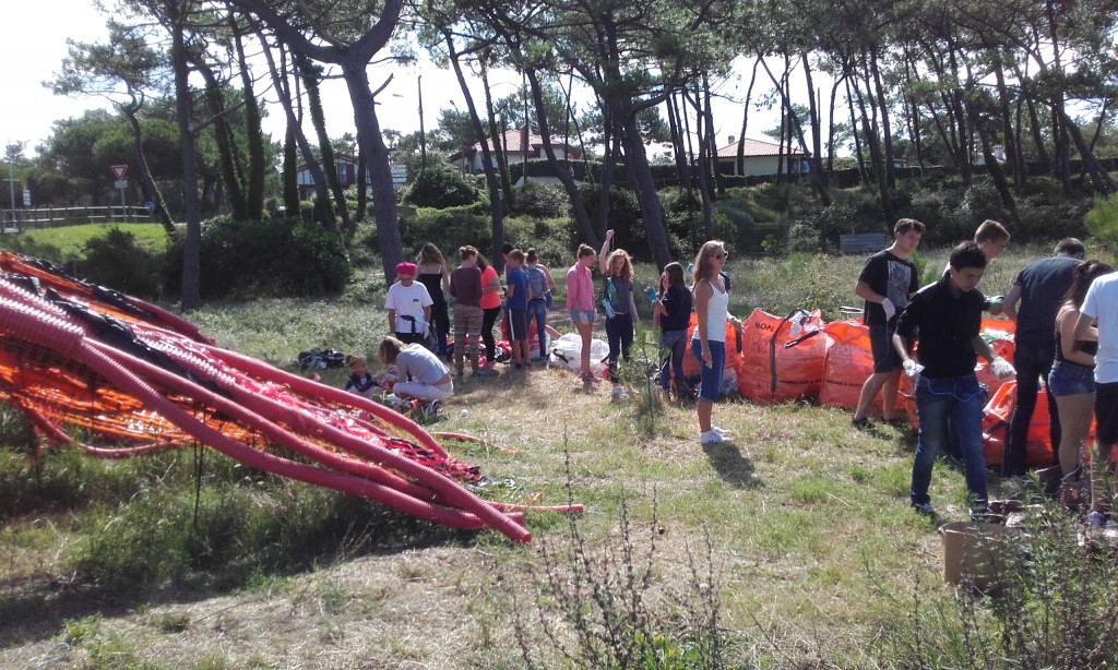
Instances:
[[[999,261],[999,275],[1012,279],[1024,260]],[[738,265],[736,281],[764,271],[749,262],[758,266]],[[907,508],[907,431],[856,432],[847,413],[806,404],[722,403],[716,418],[736,438],[703,448],[691,408],[663,406],[647,434],[636,406],[610,401],[608,384],[587,390],[572,373],[534,366],[466,380],[437,429],[502,448],[457,453],[506,482],[493,494],[502,499],[565,502],[569,487],[586,505],[579,524],[591,554],[618,547],[624,497],[636,544],[657,534],[657,594],[681,587],[689,551],[709,532],[722,625],[741,664],[880,667],[873,640],[897,614],[885,595],[916,587],[929,606],[950,597],[935,526]],[[937,468],[932,496],[945,517],[965,517],[964,495],[961,473]],[[659,527],[650,529],[654,505]],[[79,530],[20,542],[37,523],[12,519],[0,533],[2,667],[63,655],[69,667],[520,668],[510,594],[534,620],[549,597],[536,581],[538,546],[561,546],[566,536],[557,515],[536,514],[533,546],[482,533],[461,544],[358,552],[287,576],[265,572],[243,591],[151,588],[142,605],[119,607],[67,595],[58,556]],[[38,624],[12,609],[29,592],[40,594]],[[70,638],[59,653],[55,644]]]

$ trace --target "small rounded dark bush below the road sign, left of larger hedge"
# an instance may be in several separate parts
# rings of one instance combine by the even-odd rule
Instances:
[[[136,236],[120,228],[85,243],[82,272],[95,284],[158,299],[163,284],[165,256],[142,247]]]

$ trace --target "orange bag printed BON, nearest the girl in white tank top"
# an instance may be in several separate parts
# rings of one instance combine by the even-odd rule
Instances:
[[[754,309],[743,326],[738,393],[761,403],[818,396],[827,350],[818,309],[784,318]]]

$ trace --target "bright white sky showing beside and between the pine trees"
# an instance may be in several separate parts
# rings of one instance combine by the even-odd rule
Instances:
[[[0,141],[4,145],[25,142],[25,155],[34,155],[35,147],[51,133],[56,119],[80,116],[85,109],[106,107],[98,97],[56,96],[41,85],[51,79],[67,55],[67,38],[78,41],[103,41],[108,31],[106,16],[97,11],[91,0],[9,0],[4,3],[4,20],[0,21],[0,92],[8,104],[0,106]],[[263,75],[265,69],[259,69]],[[404,134],[419,130],[419,88],[423,89],[424,125],[436,126],[440,108],[452,107],[456,102],[465,109],[462,92],[454,73],[427,64],[421,67],[404,68],[396,65],[370,68],[370,82],[377,88],[391,76],[391,82],[378,95],[380,126]],[[517,90],[520,78],[514,73],[492,74],[494,98]],[[723,87],[728,96],[742,96],[748,84],[731,82]],[[759,87],[758,87],[759,88]],[[323,85],[323,108],[326,130],[331,137],[340,137],[353,132],[353,113],[340,80]],[[480,90],[475,92],[480,95]],[[265,99],[267,99],[265,94]],[[274,99],[274,98],[273,98]],[[475,99],[480,99],[475,97]],[[269,108],[265,121],[265,132],[276,140],[284,133],[283,113],[276,106]],[[773,114],[766,121],[765,113],[750,113],[749,135],[764,137],[760,128],[776,124]],[[719,146],[728,143],[728,136],[739,135],[741,128],[740,104],[719,100],[714,105],[716,134]],[[107,170],[107,166],[106,166]]]

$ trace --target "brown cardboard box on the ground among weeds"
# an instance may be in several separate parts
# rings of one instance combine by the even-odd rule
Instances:
[[[1021,530],[997,524],[951,521],[939,527],[944,544],[944,581],[996,591],[1011,576],[1013,539]]]

